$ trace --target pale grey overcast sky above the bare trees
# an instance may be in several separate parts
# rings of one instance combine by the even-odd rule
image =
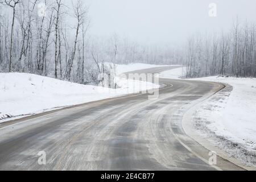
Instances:
[[[227,30],[233,20],[256,20],[255,0],[88,0],[94,35],[114,32],[140,42],[178,43],[195,32]],[[217,17],[209,16],[216,3]]]

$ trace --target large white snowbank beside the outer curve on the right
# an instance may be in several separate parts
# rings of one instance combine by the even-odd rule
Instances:
[[[240,147],[256,155],[256,78],[207,77],[193,80],[228,84],[200,107],[195,118],[209,122],[204,125],[218,137],[241,144]],[[232,154],[228,149],[227,152]]]

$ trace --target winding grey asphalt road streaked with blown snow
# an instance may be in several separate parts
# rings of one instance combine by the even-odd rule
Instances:
[[[170,67],[144,69],[157,73]],[[137,71],[138,72],[138,71]],[[91,102],[0,125],[1,170],[240,170],[188,137],[181,119],[223,85],[159,79],[157,100],[138,94]],[[39,165],[40,151],[46,165]]]

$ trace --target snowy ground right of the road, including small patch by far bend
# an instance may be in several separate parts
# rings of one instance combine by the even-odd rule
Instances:
[[[183,69],[160,73],[160,77],[182,77]],[[189,80],[226,85],[194,113],[193,126],[201,137],[210,140],[229,156],[256,167],[256,78],[213,76]]]

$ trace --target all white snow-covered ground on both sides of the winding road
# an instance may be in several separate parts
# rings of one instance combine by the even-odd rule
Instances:
[[[162,66],[162,65],[161,65]],[[159,67],[159,65],[117,65],[117,73]],[[159,77],[181,78],[185,68],[160,73]],[[193,80],[227,84],[193,115],[195,129],[230,156],[256,166],[256,78],[206,77]],[[143,81],[118,78],[119,89],[80,85],[28,73],[0,73],[0,122],[10,116],[24,117],[56,108],[77,105],[159,88]],[[7,119],[4,119],[7,118]]]

